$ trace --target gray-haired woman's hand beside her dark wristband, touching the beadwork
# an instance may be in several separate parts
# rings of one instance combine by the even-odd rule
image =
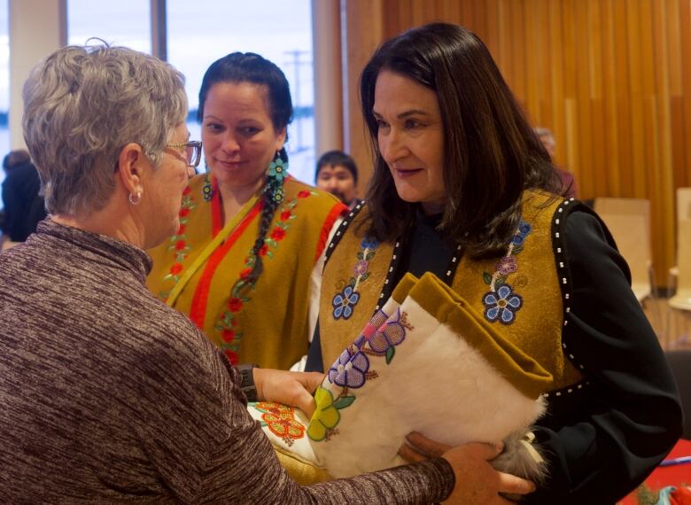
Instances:
[[[276,401],[314,414],[314,390],[322,384],[324,375],[319,372],[289,372],[275,369],[252,369],[257,398]]]

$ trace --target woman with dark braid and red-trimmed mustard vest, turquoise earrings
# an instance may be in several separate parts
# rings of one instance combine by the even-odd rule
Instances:
[[[212,64],[199,90],[206,175],[190,181],[175,236],[151,251],[151,291],[232,363],[288,369],[307,353],[313,270],[346,207],[288,175],[283,72],[257,54]]]

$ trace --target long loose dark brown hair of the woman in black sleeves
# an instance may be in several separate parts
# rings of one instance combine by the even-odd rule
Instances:
[[[377,76],[388,70],[432,89],[445,132],[446,205],[440,228],[472,256],[498,253],[515,233],[524,189],[561,193],[545,151],[485,44],[464,27],[431,23],[383,43],[361,75],[361,105],[374,153],[369,233],[391,241],[412,224],[377,144]]]

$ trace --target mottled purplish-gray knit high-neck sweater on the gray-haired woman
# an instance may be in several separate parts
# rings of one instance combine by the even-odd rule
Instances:
[[[444,460],[296,485],[143,251],[43,221],[0,253],[0,501],[424,503]]]

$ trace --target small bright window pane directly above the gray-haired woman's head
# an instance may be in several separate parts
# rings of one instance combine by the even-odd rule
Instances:
[[[151,54],[149,2],[67,0],[67,42],[84,45],[90,37]]]

